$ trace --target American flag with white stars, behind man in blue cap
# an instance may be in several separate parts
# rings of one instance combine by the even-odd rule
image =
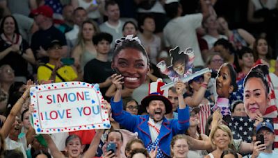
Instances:
[[[264,121],[272,123],[275,129],[275,149],[278,149],[278,118],[264,118]],[[243,141],[250,143],[252,141],[252,134],[254,128],[254,121],[248,117],[232,117],[231,122],[228,123],[234,139],[243,139]]]

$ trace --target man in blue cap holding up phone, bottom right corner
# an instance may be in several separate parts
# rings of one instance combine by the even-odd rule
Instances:
[[[256,134],[263,135],[264,143],[256,141],[254,143],[252,158],[257,157],[278,157],[278,152],[273,150],[273,144],[275,142],[275,130],[273,126],[268,122],[260,123],[256,127]]]

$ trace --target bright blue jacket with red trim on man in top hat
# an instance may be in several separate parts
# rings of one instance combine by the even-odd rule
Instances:
[[[131,132],[138,132],[138,137],[142,139],[145,147],[152,143],[151,134],[149,132],[149,115],[132,115],[129,112],[123,110],[122,100],[119,102],[114,102],[111,99],[112,107],[112,117]],[[176,134],[183,134],[189,127],[189,107],[186,106],[185,109],[178,109],[178,119],[172,119],[167,121],[164,117],[160,133],[158,134],[158,146],[164,152],[165,155],[170,156],[170,143],[172,137]]]

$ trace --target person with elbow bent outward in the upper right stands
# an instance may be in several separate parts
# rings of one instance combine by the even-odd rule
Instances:
[[[229,42],[233,44],[236,50],[242,49],[243,46],[252,47],[252,45],[254,44],[255,38],[253,37],[253,35],[242,28],[230,30],[227,19],[225,19],[224,17],[218,17],[218,23],[220,26],[220,33],[228,37]]]

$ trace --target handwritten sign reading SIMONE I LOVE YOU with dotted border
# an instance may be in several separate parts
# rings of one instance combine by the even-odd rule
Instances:
[[[31,104],[36,133],[110,128],[99,85],[59,82],[32,87]]]

